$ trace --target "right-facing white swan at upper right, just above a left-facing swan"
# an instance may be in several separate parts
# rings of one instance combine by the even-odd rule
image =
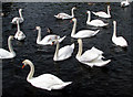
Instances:
[[[108,6],[108,13],[103,12],[103,11],[99,11],[99,12],[93,12],[93,14],[101,17],[101,18],[111,18],[111,13],[110,13],[110,6]]]

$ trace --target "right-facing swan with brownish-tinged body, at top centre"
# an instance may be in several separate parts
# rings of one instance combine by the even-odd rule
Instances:
[[[62,20],[64,20],[64,19],[72,19],[72,18],[74,18],[74,10],[75,10],[76,8],[75,7],[73,7],[72,8],[72,10],[71,10],[71,12],[72,12],[72,14],[71,15],[69,15],[69,14],[66,14],[66,13],[59,13],[59,14],[57,14],[57,15],[54,15],[57,19],[62,19]]]

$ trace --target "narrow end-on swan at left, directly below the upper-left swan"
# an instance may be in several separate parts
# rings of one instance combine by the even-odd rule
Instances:
[[[18,28],[18,31],[14,35],[14,39],[19,40],[19,41],[22,41],[25,39],[25,35],[22,31],[20,31],[20,24],[19,24],[19,20],[17,19],[17,28]]]

